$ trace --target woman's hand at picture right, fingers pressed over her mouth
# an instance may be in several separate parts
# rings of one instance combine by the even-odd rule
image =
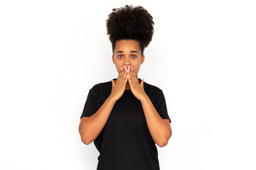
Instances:
[[[139,81],[135,76],[134,69],[131,68],[129,69],[128,81],[129,81],[129,86],[131,88],[132,94],[134,94],[134,96],[138,98],[139,101],[141,101],[142,98],[146,96],[146,93],[144,91],[144,79],[139,84]]]

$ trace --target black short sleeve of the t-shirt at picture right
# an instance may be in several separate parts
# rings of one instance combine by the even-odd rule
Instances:
[[[171,123],[171,119],[169,118],[167,107],[166,107],[166,100],[164,98],[164,93],[161,89],[159,90],[159,93],[156,94],[154,107],[156,108],[157,113],[159,113],[162,119],[169,119],[169,122]]]

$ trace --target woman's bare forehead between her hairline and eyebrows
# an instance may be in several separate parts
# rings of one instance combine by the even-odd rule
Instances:
[[[139,41],[137,40],[117,40],[114,50],[139,50]]]

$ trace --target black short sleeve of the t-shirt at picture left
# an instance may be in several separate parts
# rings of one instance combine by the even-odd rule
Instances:
[[[87,99],[85,101],[85,106],[83,108],[82,115],[81,115],[80,119],[82,117],[90,117],[91,115],[93,115],[96,112],[97,112],[96,91],[95,91],[95,89],[92,88],[92,89],[90,89],[90,91],[87,95]]]

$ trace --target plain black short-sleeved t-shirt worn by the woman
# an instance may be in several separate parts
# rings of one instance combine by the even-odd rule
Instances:
[[[139,83],[141,81],[139,79]],[[110,96],[111,91],[111,81],[92,86],[80,118],[93,115]],[[169,119],[171,123],[163,91],[145,81],[144,91],[161,118]],[[97,170],[160,169],[156,144],[147,127],[142,103],[131,90],[124,90],[124,94],[116,101],[94,144],[100,152]]]

